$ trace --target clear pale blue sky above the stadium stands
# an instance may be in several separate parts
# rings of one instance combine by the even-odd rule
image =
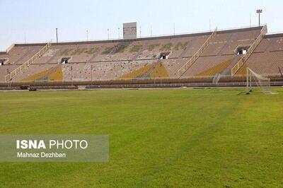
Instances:
[[[212,28],[235,28],[258,24],[257,8],[269,32],[283,31],[282,0],[0,0],[0,49],[12,43],[118,37],[122,23],[137,21],[141,36],[191,33]],[[139,30],[138,30],[139,33]],[[122,36],[122,29],[120,29]]]

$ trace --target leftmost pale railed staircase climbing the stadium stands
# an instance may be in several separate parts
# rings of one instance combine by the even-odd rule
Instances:
[[[48,42],[47,45],[45,45],[45,47],[43,47],[42,49],[40,49],[39,52],[37,52],[33,57],[31,57],[30,59],[28,59],[28,61],[25,61],[25,63],[23,63],[21,66],[18,66],[18,68],[16,68],[15,70],[11,71],[10,74],[7,74],[5,76],[5,81],[9,82],[11,81],[15,76],[18,76],[19,74],[23,73],[24,70],[28,69],[28,67],[30,66],[30,64],[33,64],[37,59],[39,59],[40,57],[42,57],[42,55],[47,52],[47,50],[50,48],[51,46],[51,42]]]

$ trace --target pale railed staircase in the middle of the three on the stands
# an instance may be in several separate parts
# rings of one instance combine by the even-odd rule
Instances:
[[[212,40],[214,39],[214,37],[217,34],[217,28],[214,30],[214,32],[212,32],[212,35],[210,35],[208,37],[208,39],[204,42],[204,44],[202,45],[202,47],[200,47],[199,50],[197,50],[197,52],[189,59],[189,61],[187,61],[179,70],[178,70],[178,76],[179,78],[181,76],[183,76],[183,74],[185,74],[185,71],[187,71],[187,69],[190,68],[190,66],[192,66],[192,64],[195,63],[195,61],[197,61],[197,59],[200,57],[200,55],[202,54],[202,52],[204,52],[204,50],[207,48],[207,46],[209,45],[210,42],[212,42]]]

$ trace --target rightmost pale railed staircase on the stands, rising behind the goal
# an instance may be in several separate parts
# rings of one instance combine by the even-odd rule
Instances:
[[[253,42],[253,45],[250,46],[250,48],[248,49],[248,52],[231,69],[232,76],[234,76],[237,73],[237,71],[241,69],[243,64],[246,63],[246,61],[248,60],[250,55],[253,54],[253,51],[255,51],[255,48],[258,47],[258,45],[260,44],[260,42],[262,41],[266,33],[267,33],[267,25],[264,25],[262,27],[262,30],[260,31],[260,35],[258,35],[258,38],[255,40],[255,42]]]

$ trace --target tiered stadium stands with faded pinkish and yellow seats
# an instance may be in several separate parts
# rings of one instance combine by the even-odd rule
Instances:
[[[15,44],[0,52],[1,86],[244,83],[246,68],[280,83],[283,33],[267,25],[214,32]]]

